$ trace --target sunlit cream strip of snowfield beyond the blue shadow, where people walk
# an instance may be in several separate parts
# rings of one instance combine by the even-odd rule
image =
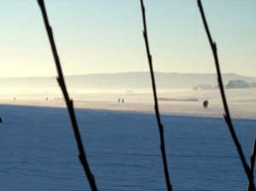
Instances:
[[[256,119],[256,88],[243,90],[225,90],[230,108],[230,115],[235,119]],[[48,97],[48,101],[45,98]],[[74,107],[96,110],[122,112],[154,113],[153,94],[87,94],[70,96]],[[57,98],[57,100],[55,100]],[[60,98],[60,100],[58,100]],[[222,118],[223,102],[219,90],[191,90],[186,92],[160,93],[158,98],[186,100],[196,98],[198,101],[159,101],[160,113]],[[124,99],[125,103],[118,103]],[[209,106],[203,109],[202,102],[208,100]],[[121,101],[120,101],[121,102]],[[0,104],[33,107],[66,107],[61,95],[21,95],[2,96]]]

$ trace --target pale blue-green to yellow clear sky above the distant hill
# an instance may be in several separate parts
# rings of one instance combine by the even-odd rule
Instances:
[[[139,0],[45,0],[64,75],[148,72]],[[221,72],[256,77],[256,1],[203,1]],[[216,72],[195,0],[144,0],[156,72]],[[56,76],[36,0],[0,0],[0,78]]]

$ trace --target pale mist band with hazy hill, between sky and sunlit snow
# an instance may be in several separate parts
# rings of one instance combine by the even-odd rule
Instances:
[[[158,92],[188,91],[199,84],[218,84],[216,73],[164,73],[154,72]],[[222,74],[224,85],[230,80],[245,80],[256,83],[256,78],[236,73]],[[66,76],[67,90],[70,93],[151,93],[152,84],[149,72],[96,73]],[[0,78],[2,94],[53,94],[61,93],[55,77]]]

